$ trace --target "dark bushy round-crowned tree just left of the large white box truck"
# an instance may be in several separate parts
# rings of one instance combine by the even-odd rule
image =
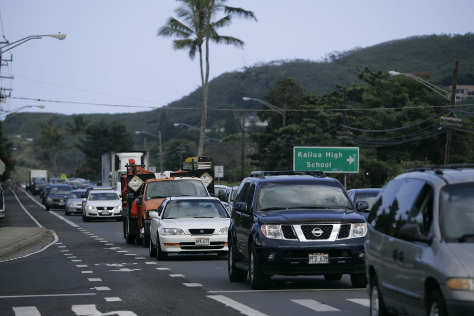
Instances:
[[[84,139],[80,141],[80,150],[86,158],[85,166],[81,170],[87,170],[89,175],[100,177],[101,158],[108,152],[130,152],[133,151],[134,140],[132,134],[127,130],[125,124],[104,119],[91,123],[85,129]],[[82,172],[81,172],[82,174]],[[89,178],[94,178],[89,176]]]

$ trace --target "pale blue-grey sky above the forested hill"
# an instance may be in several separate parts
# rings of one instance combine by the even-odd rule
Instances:
[[[44,105],[62,114],[147,111],[200,85],[198,59],[174,51],[157,30],[180,2],[173,0],[3,0],[0,41],[66,33],[65,40],[30,40],[2,54],[2,110]],[[258,22],[234,19],[221,35],[245,42],[211,46],[210,78],[258,62],[320,61],[332,51],[368,47],[417,35],[474,32],[473,0],[229,0]],[[1,44],[2,46],[4,44]],[[4,62],[3,62],[4,63]],[[61,101],[31,101],[21,98]],[[84,105],[69,102],[119,106]],[[133,106],[133,107],[131,107]],[[137,108],[143,106],[143,108]]]

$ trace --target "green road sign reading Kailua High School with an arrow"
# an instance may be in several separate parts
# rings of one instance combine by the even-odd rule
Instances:
[[[293,147],[293,170],[358,173],[358,147]]]

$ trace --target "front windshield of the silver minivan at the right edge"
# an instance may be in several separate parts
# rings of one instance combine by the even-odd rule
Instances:
[[[474,183],[448,185],[439,195],[443,237],[450,241],[474,241]]]

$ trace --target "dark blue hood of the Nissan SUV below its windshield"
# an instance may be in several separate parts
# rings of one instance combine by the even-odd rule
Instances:
[[[291,209],[262,211],[267,224],[363,223],[362,215],[353,210]]]

